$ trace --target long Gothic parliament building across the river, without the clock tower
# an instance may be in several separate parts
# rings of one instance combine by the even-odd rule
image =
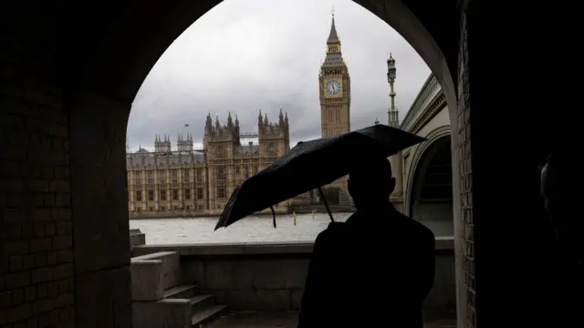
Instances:
[[[287,113],[270,122],[260,111],[256,132],[242,132],[239,120],[207,116],[203,149],[193,149],[193,135],[155,137],[154,151],[127,154],[130,216],[218,215],[235,187],[290,149]],[[241,138],[257,138],[242,145]],[[309,202],[307,195],[290,200]],[[287,204],[288,202],[286,202]],[[286,204],[276,210],[286,211]]]

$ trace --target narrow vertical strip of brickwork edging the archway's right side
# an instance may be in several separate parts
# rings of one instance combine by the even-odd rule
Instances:
[[[464,227],[463,242],[461,243],[464,254],[463,279],[464,289],[464,327],[476,327],[475,308],[475,283],[474,283],[474,221],[473,221],[473,171],[471,167],[471,124],[470,124],[470,103],[469,103],[469,71],[468,71],[468,48],[466,34],[466,7],[461,10],[460,19],[460,45],[458,55],[458,90],[457,90],[457,134],[455,154],[458,158],[459,167],[459,187],[460,187],[460,220]],[[451,118],[452,119],[452,118]],[[460,283],[460,282],[459,282]]]

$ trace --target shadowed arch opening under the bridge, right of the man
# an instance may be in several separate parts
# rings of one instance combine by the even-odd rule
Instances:
[[[433,142],[415,169],[410,213],[436,237],[454,236],[453,171],[450,137]]]

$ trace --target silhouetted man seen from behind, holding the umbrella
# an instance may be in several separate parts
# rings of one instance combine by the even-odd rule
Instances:
[[[349,173],[357,211],[318,234],[299,328],[422,328],[422,302],[433,285],[434,236],[395,210],[387,159],[364,160]]]

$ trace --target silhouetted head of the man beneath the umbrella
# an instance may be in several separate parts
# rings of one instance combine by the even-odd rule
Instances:
[[[357,208],[387,203],[394,188],[390,162],[381,155],[362,159],[349,172],[349,193]]]

